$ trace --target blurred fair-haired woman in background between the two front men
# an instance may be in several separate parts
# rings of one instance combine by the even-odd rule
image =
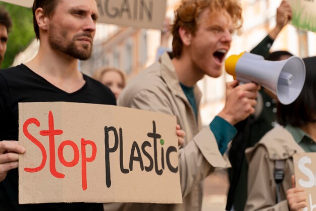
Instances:
[[[108,86],[116,99],[126,86],[126,74],[117,68],[102,67],[94,72],[92,78]]]

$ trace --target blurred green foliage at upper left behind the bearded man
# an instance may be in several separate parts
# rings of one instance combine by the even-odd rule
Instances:
[[[33,14],[30,8],[24,8],[4,2],[0,6],[5,7],[12,18],[13,27],[9,33],[7,52],[2,68],[10,67],[14,58],[21,50],[24,50],[35,38],[33,29]]]

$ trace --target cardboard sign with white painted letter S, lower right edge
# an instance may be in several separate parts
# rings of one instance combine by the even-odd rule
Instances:
[[[296,153],[293,155],[296,187],[305,189],[307,208],[316,207],[316,152]]]

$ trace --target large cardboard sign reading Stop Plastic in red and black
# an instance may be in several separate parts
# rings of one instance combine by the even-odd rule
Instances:
[[[181,203],[176,118],[72,102],[19,103],[19,203]]]

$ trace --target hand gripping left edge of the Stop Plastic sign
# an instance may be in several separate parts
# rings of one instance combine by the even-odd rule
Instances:
[[[8,171],[18,168],[18,153],[25,148],[18,141],[0,141],[0,182],[6,179]]]

